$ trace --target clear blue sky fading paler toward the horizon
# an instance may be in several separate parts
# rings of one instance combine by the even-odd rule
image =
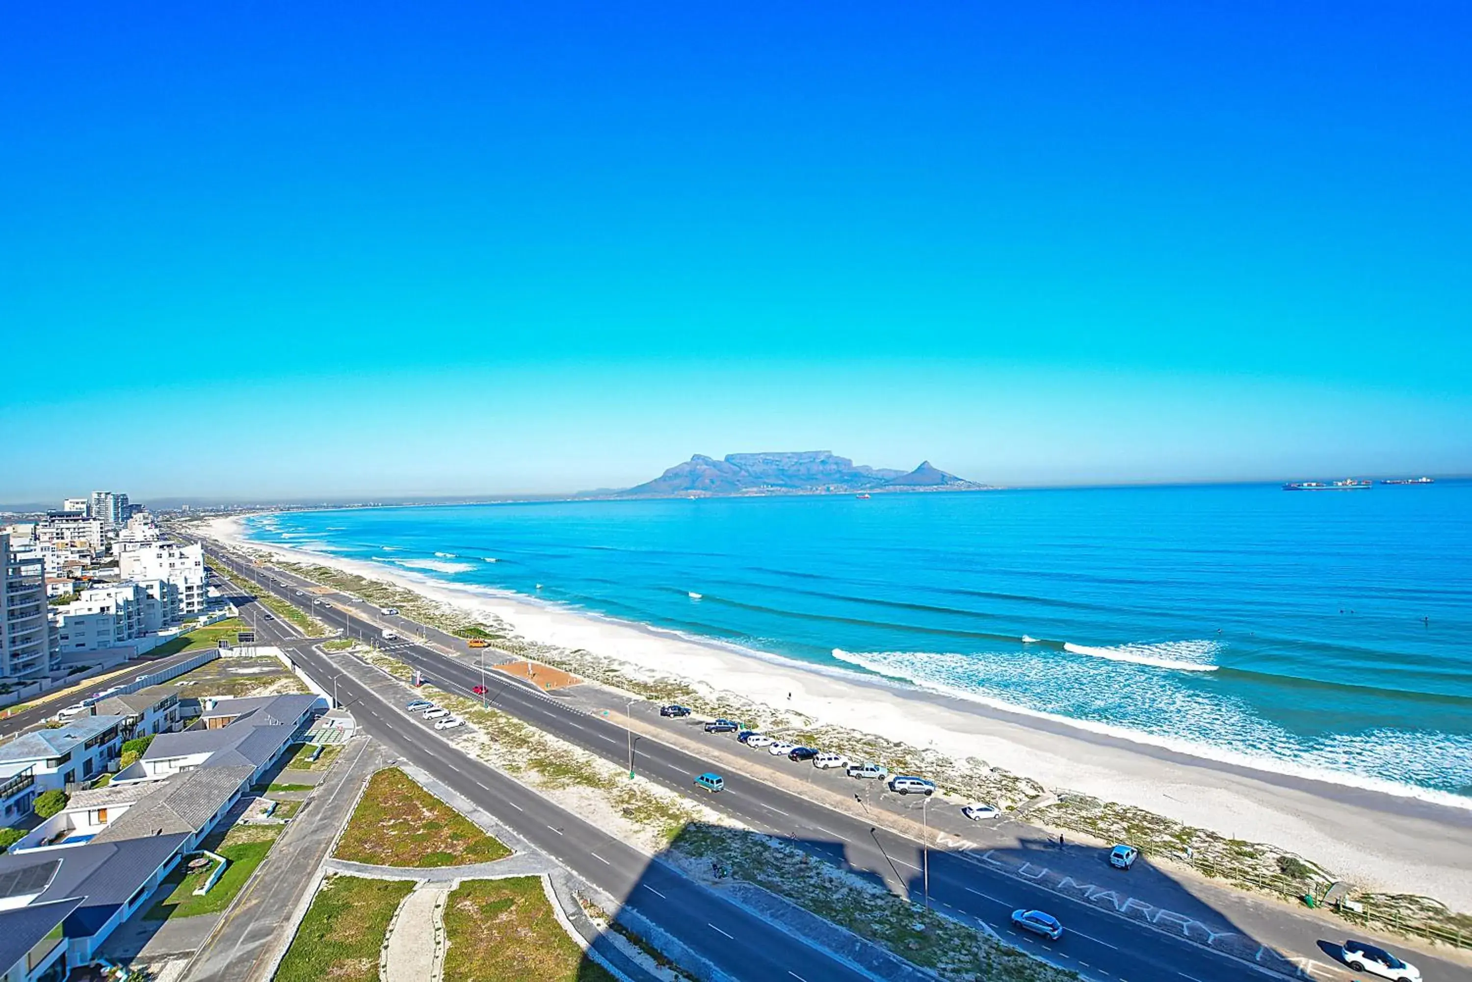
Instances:
[[[980,6],[13,10],[0,501],[1472,471],[1465,4]]]

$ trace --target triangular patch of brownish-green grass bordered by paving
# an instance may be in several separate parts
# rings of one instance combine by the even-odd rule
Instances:
[[[511,849],[389,767],[368,782],[336,855],[375,866],[439,867],[490,863]]]

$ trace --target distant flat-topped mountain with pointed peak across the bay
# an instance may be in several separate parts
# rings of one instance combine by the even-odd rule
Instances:
[[[823,495],[843,492],[979,490],[976,481],[923,462],[913,471],[855,465],[830,451],[796,453],[696,453],[652,481],[618,492],[620,498],[673,495]]]

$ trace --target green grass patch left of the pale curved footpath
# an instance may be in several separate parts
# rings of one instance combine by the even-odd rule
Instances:
[[[378,982],[378,951],[389,922],[412,889],[408,880],[325,880],[277,967],[275,982]]]

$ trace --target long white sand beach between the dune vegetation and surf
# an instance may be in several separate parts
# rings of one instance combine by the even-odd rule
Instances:
[[[631,673],[740,693],[776,713],[855,729],[988,764],[1104,801],[1133,805],[1234,839],[1294,844],[1340,876],[1387,892],[1472,910],[1472,799],[1416,795],[1219,760],[1042,713],[924,689],[886,676],[813,665],[735,645],[436,580],[334,554],[246,539],[240,517],[206,524],[227,545],[394,583],[427,599],[493,615],[545,645],[586,649]],[[1451,801],[1438,801],[1441,795]]]

